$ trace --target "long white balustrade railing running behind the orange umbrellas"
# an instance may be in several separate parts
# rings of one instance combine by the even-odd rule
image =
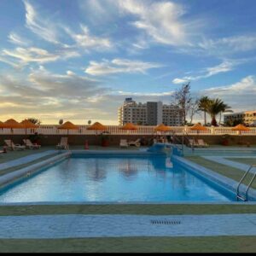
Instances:
[[[163,135],[162,132],[155,132],[155,126],[144,126],[139,125],[137,131],[123,131],[120,129],[119,125],[106,125],[108,128],[109,134],[112,135]],[[79,125],[79,130],[71,130],[68,131],[70,135],[89,135],[89,134],[96,134],[96,131],[87,130],[89,125]],[[34,134],[37,131],[39,134],[45,135],[67,135],[67,130],[58,130],[58,125],[40,125],[38,129],[0,129],[1,134],[20,134],[20,135],[30,135]],[[172,126],[172,131],[164,132],[165,135],[172,136],[175,133],[176,136],[178,135],[234,135],[234,136],[255,136],[256,135],[256,127],[250,128],[250,131],[232,131],[232,127],[208,127],[208,131],[190,131],[189,126]],[[101,133],[97,131],[97,133]]]

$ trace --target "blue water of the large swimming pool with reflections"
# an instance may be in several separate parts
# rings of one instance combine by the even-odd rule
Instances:
[[[0,191],[0,202],[232,201],[157,157],[71,157]]]

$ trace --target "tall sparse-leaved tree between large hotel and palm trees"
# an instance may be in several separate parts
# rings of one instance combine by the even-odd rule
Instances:
[[[190,95],[190,83],[188,84],[183,84],[182,88],[177,89],[174,93],[174,100],[181,108],[182,113],[183,113],[183,125],[187,123],[186,117],[189,112],[189,108],[191,108],[191,101],[192,97]]]

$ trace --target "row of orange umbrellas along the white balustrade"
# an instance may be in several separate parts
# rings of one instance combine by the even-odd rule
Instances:
[[[0,128],[9,128],[9,129],[36,129],[38,128],[38,125],[33,124],[31,121],[25,119],[22,122],[17,122],[15,119],[9,119],[5,121],[4,123],[0,121]],[[73,125],[73,123],[67,121],[63,125],[60,125],[58,129],[61,130],[78,130],[79,126],[78,125]],[[99,122],[96,122],[93,125],[90,125],[90,127],[87,128],[88,130],[93,130],[93,131],[107,131],[108,128],[105,125],[102,125]],[[133,125],[131,123],[127,123],[124,126],[120,128],[121,130],[125,131],[137,131],[137,125]],[[207,127],[201,125],[200,123],[192,126],[190,128],[191,131],[208,131]],[[232,131],[250,131],[250,129],[244,125],[236,125],[236,127],[233,127],[231,129]],[[166,125],[157,125],[154,128],[154,131],[172,131],[172,128],[170,126]]]

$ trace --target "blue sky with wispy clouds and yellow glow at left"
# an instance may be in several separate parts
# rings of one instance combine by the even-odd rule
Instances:
[[[125,97],[170,104],[187,82],[256,110],[255,12],[255,0],[1,0],[0,120],[117,125]]]

